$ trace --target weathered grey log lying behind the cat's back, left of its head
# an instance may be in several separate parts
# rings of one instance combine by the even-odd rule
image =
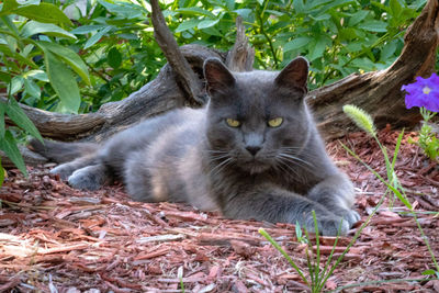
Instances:
[[[200,45],[185,45],[180,49],[193,70],[200,75],[206,58],[225,59],[224,53]],[[165,65],[155,80],[122,101],[102,105],[95,113],[70,115],[20,105],[45,137],[101,142],[133,123],[184,104],[185,97],[176,83],[175,71]],[[8,116],[7,123],[13,124]]]

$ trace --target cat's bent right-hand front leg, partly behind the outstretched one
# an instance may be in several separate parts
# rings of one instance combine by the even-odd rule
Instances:
[[[327,177],[309,190],[307,198],[342,217],[349,226],[360,219],[360,215],[352,210],[354,203],[353,185],[344,173]]]

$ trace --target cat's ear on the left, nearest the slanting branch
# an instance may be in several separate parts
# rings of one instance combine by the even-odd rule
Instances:
[[[209,93],[224,91],[235,84],[235,78],[218,58],[207,58],[204,61],[204,77]]]

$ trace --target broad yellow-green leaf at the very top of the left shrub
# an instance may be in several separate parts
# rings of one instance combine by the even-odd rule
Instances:
[[[72,25],[69,18],[52,3],[42,2],[40,5],[19,7],[13,10],[13,13],[38,22]]]

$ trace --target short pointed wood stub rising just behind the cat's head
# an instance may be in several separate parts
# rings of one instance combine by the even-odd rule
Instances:
[[[251,71],[255,61],[255,48],[248,44],[246,27],[240,16],[236,18],[236,41],[227,54],[226,66],[236,72]]]

